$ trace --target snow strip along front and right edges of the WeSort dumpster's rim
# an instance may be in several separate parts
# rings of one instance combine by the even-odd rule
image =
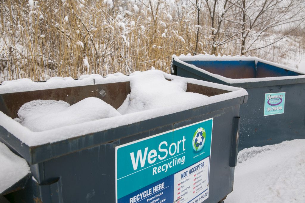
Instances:
[[[165,74],[165,73],[164,73]],[[181,78],[179,76],[169,75],[170,79],[175,78]],[[224,100],[231,100],[236,97],[243,97],[248,95],[247,91],[245,89],[239,88],[239,87],[232,87],[232,86],[224,86],[221,84],[211,83],[211,82],[205,82],[201,80],[196,79],[186,79],[186,82],[198,84],[199,86],[205,86],[205,87],[211,87],[211,88],[218,88],[218,89],[224,89],[228,90],[228,93],[224,94],[217,94],[214,96],[207,97],[204,100],[198,100],[198,101],[192,101],[191,103],[178,103],[175,105],[167,106],[159,108],[158,111],[155,109],[152,110],[145,110],[141,112],[135,112],[132,114],[125,114],[122,115],[122,119],[118,120],[117,117],[110,117],[110,118],[104,118],[96,121],[90,121],[85,122],[81,124],[74,125],[76,128],[69,129],[69,133],[64,133],[63,130],[67,129],[69,126],[64,126],[61,128],[51,129],[47,131],[40,131],[40,132],[33,132],[30,131],[28,128],[22,126],[17,121],[14,121],[12,117],[9,117],[5,115],[3,112],[0,112],[0,124],[8,129],[12,134],[14,134],[17,138],[23,141],[23,144],[27,144],[29,146],[35,146],[35,145],[41,145],[48,142],[56,142],[59,140],[64,140],[70,137],[75,137],[79,135],[88,134],[95,131],[103,131],[106,129],[109,129],[109,124],[111,124],[112,127],[119,127],[125,124],[131,124],[131,122],[137,122],[148,119],[147,114],[149,114],[149,118],[153,117],[160,117],[167,114],[172,114],[177,111],[183,111],[188,110],[192,108],[202,107],[206,105],[210,105],[213,103],[216,103],[217,101],[224,101]],[[1,97],[0,97],[1,98]],[[120,116],[121,117],[121,116]],[[128,118],[127,118],[128,117]],[[130,121],[130,120],[133,121]],[[119,121],[119,122],[118,122]],[[96,126],[99,126],[96,128]],[[90,128],[91,126],[91,128]],[[94,128],[94,130],[92,130]],[[77,130],[78,129],[78,130]],[[86,130],[87,129],[87,130]],[[27,135],[30,135],[31,137],[27,137]],[[48,135],[48,141],[45,141],[46,137],[41,135]],[[52,135],[52,136],[51,136]],[[56,135],[54,137],[53,135]],[[53,141],[52,141],[53,140]]]

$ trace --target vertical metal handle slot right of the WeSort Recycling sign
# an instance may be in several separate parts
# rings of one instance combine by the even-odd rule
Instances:
[[[235,167],[237,163],[239,127],[240,127],[240,117],[233,117],[231,153],[230,153],[230,162],[229,162],[230,167]]]

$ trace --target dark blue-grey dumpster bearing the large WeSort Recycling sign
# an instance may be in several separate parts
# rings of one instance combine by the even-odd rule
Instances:
[[[246,103],[247,92],[162,74],[167,80],[185,80],[186,92],[207,97],[33,132],[13,120],[24,103],[63,100],[72,105],[97,97],[117,109],[132,92],[132,76],[113,82],[95,75],[91,84],[75,80],[73,86],[63,82],[65,87],[52,89],[46,82],[35,84],[38,90],[0,93],[0,141],[26,159],[31,171],[22,186],[0,196],[44,203],[222,201],[233,190],[239,106]],[[59,140],[52,141],[53,136]]]

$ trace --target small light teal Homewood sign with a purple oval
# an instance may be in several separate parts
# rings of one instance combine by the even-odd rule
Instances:
[[[266,93],[264,116],[284,114],[285,92]]]

